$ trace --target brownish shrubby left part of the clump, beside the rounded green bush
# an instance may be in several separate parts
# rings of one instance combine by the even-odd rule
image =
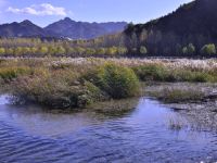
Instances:
[[[63,73],[63,72],[62,72]],[[71,78],[68,80],[68,78]],[[80,84],[72,85],[74,78],[68,75],[38,74],[34,76],[22,76],[12,83],[12,93],[20,98],[20,101],[33,101],[52,106],[53,109],[65,109],[87,104],[81,97],[86,93],[85,87]],[[80,101],[79,101],[80,100]],[[84,100],[81,102],[81,100]]]

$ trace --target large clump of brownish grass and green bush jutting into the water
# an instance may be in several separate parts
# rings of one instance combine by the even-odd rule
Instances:
[[[115,64],[36,67],[28,67],[35,71],[11,82],[12,95],[22,102],[63,109],[82,108],[95,101],[139,95],[139,80],[128,67]]]

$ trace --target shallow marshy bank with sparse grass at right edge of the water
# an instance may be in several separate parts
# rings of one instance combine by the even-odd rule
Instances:
[[[146,96],[159,99],[163,105],[173,109],[192,122],[190,128],[217,131],[217,85],[216,84],[155,84],[145,87]],[[164,98],[163,98],[164,95]],[[175,120],[176,127],[184,127]]]

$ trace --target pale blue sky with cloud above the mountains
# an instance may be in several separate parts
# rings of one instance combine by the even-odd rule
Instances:
[[[0,24],[29,20],[44,27],[64,17],[145,23],[192,0],[0,0]]]

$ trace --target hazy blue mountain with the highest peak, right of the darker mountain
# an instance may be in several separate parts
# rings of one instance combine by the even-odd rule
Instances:
[[[76,22],[69,17],[65,17],[64,20],[48,25],[44,30],[55,34],[56,36],[72,39],[91,39],[123,32],[126,25],[126,22],[88,23]]]

